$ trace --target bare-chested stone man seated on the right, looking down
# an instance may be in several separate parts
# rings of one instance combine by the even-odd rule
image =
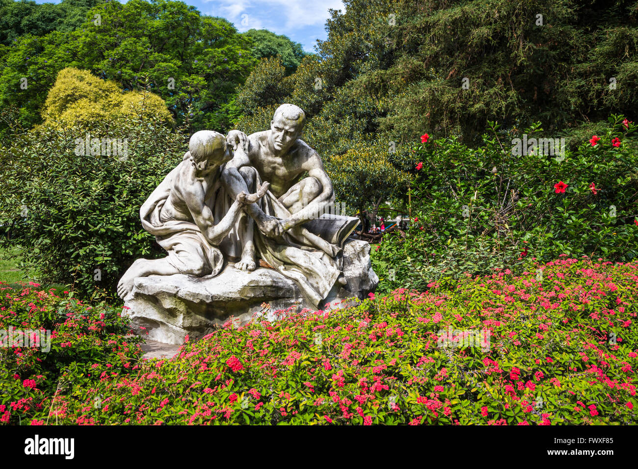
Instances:
[[[272,238],[316,218],[325,205],[334,201],[332,182],[320,156],[299,138],[305,119],[299,107],[284,104],[275,111],[270,130],[248,137],[237,130],[228,133],[227,140],[235,146],[235,156],[226,163],[221,177],[231,197],[250,191],[256,170],[262,181],[270,182],[272,194],[292,213],[286,220],[280,220],[265,214],[257,204],[245,208],[259,230]],[[304,172],[308,172],[308,177],[299,181]],[[253,221],[248,220],[247,230],[251,240]],[[244,245],[236,267],[255,270],[253,241]]]

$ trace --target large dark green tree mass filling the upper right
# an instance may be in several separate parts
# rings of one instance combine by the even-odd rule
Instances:
[[[290,77],[281,80],[272,64],[252,71],[240,89],[239,128],[263,129],[279,104],[294,103],[309,117],[309,145],[329,159],[357,141],[394,142],[401,153],[424,129],[477,145],[487,121],[507,130],[540,121],[552,137],[568,131],[582,140],[607,115],[638,107],[633,1],[345,6]]]

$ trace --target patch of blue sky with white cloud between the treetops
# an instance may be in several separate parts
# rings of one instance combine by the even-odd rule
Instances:
[[[329,8],[345,10],[341,0],[186,0],[184,3],[195,6],[204,15],[227,19],[242,33],[254,28],[285,34],[303,45],[306,52],[314,52],[317,39],[325,40],[323,26]]]

